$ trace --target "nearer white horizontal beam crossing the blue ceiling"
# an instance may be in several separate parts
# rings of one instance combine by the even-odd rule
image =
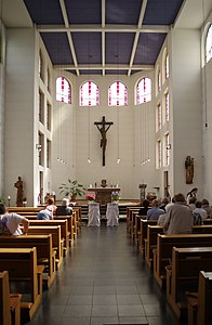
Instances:
[[[169,32],[170,26],[167,25],[37,25],[40,32]]]

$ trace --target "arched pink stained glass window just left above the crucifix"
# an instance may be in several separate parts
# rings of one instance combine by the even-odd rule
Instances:
[[[100,105],[100,88],[93,81],[87,81],[80,87],[80,106]]]

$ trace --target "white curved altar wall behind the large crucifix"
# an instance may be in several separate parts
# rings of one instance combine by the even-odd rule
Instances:
[[[55,79],[59,74],[65,76],[62,72],[55,72]],[[153,73],[146,75],[151,79],[154,77]],[[89,79],[88,76],[76,77],[66,74],[66,78],[72,87],[72,104],[62,104],[56,101],[54,103],[54,150],[52,164],[53,191],[56,192],[57,196],[58,186],[62,182],[67,182],[68,178],[77,179],[85,187],[90,184],[94,186],[95,183],[100,185],[102,179],[106,179],[108,185],[118,183],[121,187],[122,198],[138,198],[140,183],[147,183],[147,191],[154,191],[153,187],[157,186],[158,182],[156,181],[155,172],[153,172],[155,170],[155,133],[153,132],[155,113],[153,102],[145,104],[147,112],[146,119],[144,119],[144,114],[142,113],[143,105],[134,105],[135,83],[144,74],[136,74],[136,76],[133,75],[131,77],[119,76],[119,80],[128,87],[129,103],[128,106],[109,107],[107,104],[107,90],[111,81],[117,80],[116,76],[105,76],[104,78],[102,76],[92,76]],[[93,80],[100,87],[101,104],[98,107],[79,106],[79,88],[88,80]],[[66,112],[67,109],[67,113],[62,113],[68,116],[67,130],[65,120],[61,130],[59,109],[61,112]],[[114,122],[107,131],[105,166],[102,164],[101,133],[94,125],[95,121],[101,121],[103,116],[105,116],[106,121]],[[144,129],[146,132],[145,140],[142,139]],[[61,139],[61,132],[63,132],[62,152],[64,156],[68,157],[65,165],[56,159],[57,152],[61,152],[61,148],[56,145]],[[142,155],[144,155],[141,147],[144,143],[145,150],[143,148],[143,151],[146,151],[146,155],[147,151],[149,151],[151,159],[150,162],[141,165]],[[88,158],[91,159],[91,164],[88,162]],[[120,164],[117,164],[118,158],[120,158]]]

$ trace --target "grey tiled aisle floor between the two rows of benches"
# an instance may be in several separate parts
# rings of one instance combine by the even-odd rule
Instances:
[[[82,226],[32,325],[178,325],[130,240],[118,227]]]

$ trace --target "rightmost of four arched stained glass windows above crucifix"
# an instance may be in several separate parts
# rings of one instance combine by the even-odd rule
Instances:
[[[151,101],[151,80],[143,78],[136,87],[136,105]]]

